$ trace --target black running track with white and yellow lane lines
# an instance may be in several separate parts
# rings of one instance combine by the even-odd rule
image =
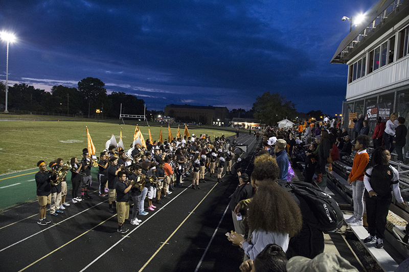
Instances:
[[[241,158],[251,174],[256,137],[242,133],[238,140],[248,144]],[[154,212],[138,216],[141,225],[126,220],[126,234],[117,232],[116,213],[96,192],[56,217],[47,211],[47,226],[37,224],[37,202],[4,210],[0,271],[238,271],[243,252],[224,235],[234,229],[228,204],[238,180],[226,175],[217,183],[209,173],[206,180],[199,190],[177,188]]]

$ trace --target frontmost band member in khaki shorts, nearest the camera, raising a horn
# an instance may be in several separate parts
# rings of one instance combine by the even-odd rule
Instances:
[[[117,192],[117,213],[118,213],[118,230],[119,233],[127,233],[129,229],[123,226],[125,219],[129,218],[129,190],[135,183],[133,180],[129,183],[126,180],[124,171],[118,172],[118,182],[115,185]]]

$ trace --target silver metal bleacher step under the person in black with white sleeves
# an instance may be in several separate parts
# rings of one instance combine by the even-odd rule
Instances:
[[[344,219],[348,219],[351,215],[344,214]],[[348,224],[348,223],[347,223]],[[349,228],[359,238],[360,242],[367,248],[368,252],[376,260],[376,262],[387,272],[393,272],[398,268],[396,261],[389,255],[385,249],[375,248],[375,243],[364,243],[363,239],[368,237],[368,231],[364,227],[351,227]],[[385,241],[384,241],[385,242]]]

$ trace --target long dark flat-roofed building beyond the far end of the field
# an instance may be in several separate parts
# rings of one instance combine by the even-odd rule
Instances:
[[[165,115],[175,118],[176,122],[196,122],[207,125],[224,126],[229,123],[229,109],[226,107],[166,105]]]

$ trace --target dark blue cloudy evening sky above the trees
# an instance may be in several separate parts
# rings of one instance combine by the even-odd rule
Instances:
[[[279,92],[299,112],[340,113],[347,65],[330,64],[350,23],[378,0],[5,1],[9,84],[50,90],[99,78],[107,92],[168,104],[252,108]],[[6,43],[0,42],[0,80]]]

